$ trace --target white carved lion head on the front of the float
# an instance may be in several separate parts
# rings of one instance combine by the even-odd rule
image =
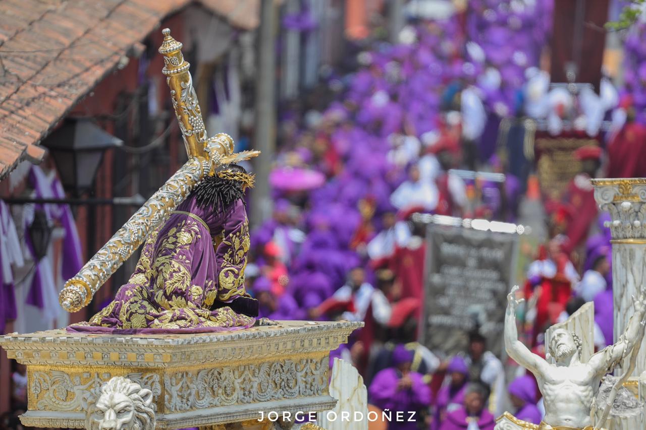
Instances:
[[[152,392],[115,376],[88,401],[85,428],[90,430],[154,430]]]

